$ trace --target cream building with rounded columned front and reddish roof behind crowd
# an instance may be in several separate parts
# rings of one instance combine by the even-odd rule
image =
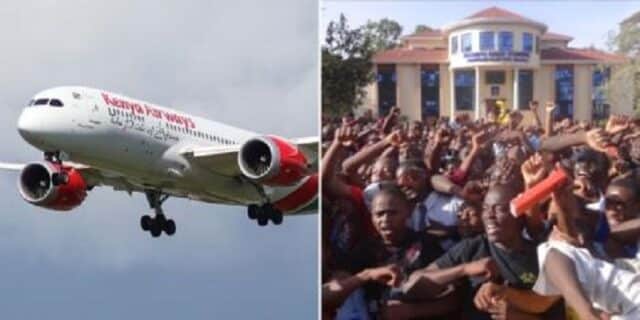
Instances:
[[[630,114],[632,101],[610,105],[603,84],[622,56],[572,48],[573,38],[545,24],[492,7],[441,30],[403,37],[397,48],[373,57],[376,81],[363,108],[386,114],[392,106],[411,120],[471,113],[497,101],[523,110],[555,101],[558,115],[577,120]]]

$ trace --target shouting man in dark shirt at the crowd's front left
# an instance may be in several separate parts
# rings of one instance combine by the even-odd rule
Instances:
[[[411,204],[402,190],[395,184],[381,184],[380,191],[371,203],[371,219],[377,237],[353,250],[351,261],[344,266],[344,270],[360,274],[363,270],[393,265],[397,277],[402,281],[442,255],[435,237],[414,232],[407,226],[410,214]],[[412,317],[431,316],[446,313],[453,307],[451,304],[436,307],[429,303],[411,305],[403,302],[404,294],[400,287],[390,287],[376,281],[361,285],[369,311],[374,317],[382,313],[384,317],[392,318],[397,317],[398,313]],[[421,300],[421,297],[414,297],[413,300]]]

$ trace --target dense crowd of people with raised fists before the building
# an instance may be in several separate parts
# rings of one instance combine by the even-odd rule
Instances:
[[[323,119],[324,319],[640,319],[640,121],[529,106]]]

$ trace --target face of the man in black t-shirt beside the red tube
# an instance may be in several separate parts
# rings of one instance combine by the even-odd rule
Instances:
[[[520,235],[520,226],[516,218],[509,212],[509,201],[506,191],[492,188],[484,198],[482,205],[482,223],[491,242],[509,246],[511,240]]]

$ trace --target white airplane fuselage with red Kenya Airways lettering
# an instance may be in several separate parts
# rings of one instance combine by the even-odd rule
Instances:
[[[52,99],[60,103],[51,105]],[[224,170],[201,168],[183,156],[190,148],[240,145],[257,136],[254,132],[85,87],[36,94],[20,116],[18,130],[42,151],[62,151],[68,160],[100,170],[102,181],[117,189],[161,189],[228,204],[262,201],[254,184]],[[267,189],[270,198],[284,195]]]

